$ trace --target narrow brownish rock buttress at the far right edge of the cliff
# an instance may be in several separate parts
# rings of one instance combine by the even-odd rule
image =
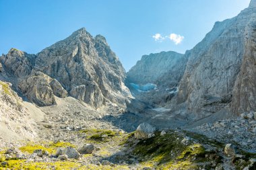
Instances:
[[[253,3],[255,2],[255,3]],[[256,7],[256,1],[251,4]],[[245,29],[245,52],[241,71],[234,85],[232,112],[256,110],[256,13]]]

